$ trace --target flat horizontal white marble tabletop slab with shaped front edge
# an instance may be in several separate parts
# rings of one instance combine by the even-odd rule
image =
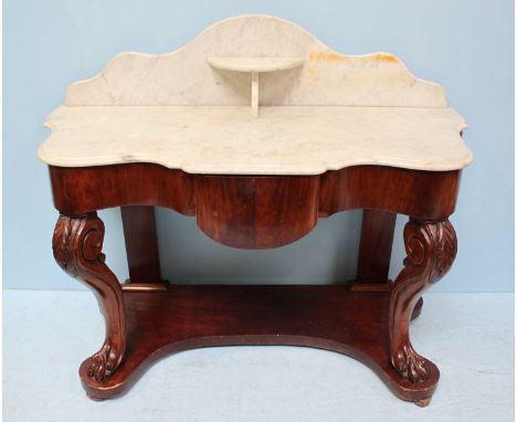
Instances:
[[[155,162],[192,173],[317,175],[356,165],[454,170],[472,161],[449,107],[76,106],[48,118],[53,166]]]

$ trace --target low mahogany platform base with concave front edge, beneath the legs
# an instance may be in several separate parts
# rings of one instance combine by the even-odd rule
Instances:
[[[429,378],[403,379],[389,355],[389,292],[349,292],[345,286],[172,286],[168,292],[124,292],[128,346],[105,381],[80,376],[94,400],[122,395],[157,360],[200,347],[306,346],[356,358],[400,399],[426,405],[440,372],[426,360]]]

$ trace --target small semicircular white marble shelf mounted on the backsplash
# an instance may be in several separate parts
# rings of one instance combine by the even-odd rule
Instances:
[[[208,57],[212,67],[233,72],[276,72],[299,67],[304,57]]]

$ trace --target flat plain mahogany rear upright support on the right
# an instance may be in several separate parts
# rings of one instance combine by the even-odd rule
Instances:
[[[390,211],[362,212],[356,283],[388,283],[395,220]]]

